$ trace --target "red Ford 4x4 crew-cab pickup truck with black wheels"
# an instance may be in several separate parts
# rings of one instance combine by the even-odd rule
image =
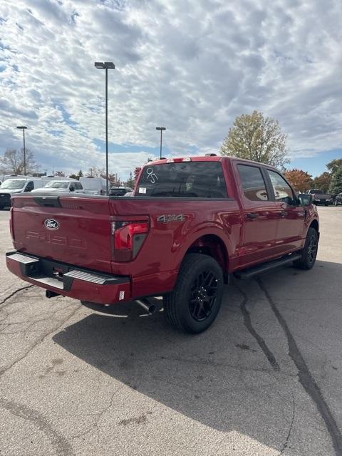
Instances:
[[[246,279],[294,263],[311,269],[318,214],[273,167],[185,157],[142,168],[134,196],[12,197],[7,266],[46,296],[137,301],[190,333],[216,318],[230,274]]]

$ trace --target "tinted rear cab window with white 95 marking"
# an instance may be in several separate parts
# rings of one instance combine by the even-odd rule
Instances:
[[[147,165],[142,170],[137,196],[227,198],[220,162],[177,162]]]

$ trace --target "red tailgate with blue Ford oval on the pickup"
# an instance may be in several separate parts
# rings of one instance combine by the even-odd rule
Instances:
[[[14,197],[12,204],[16,250],[111,271],[108,198],[27,195]]]

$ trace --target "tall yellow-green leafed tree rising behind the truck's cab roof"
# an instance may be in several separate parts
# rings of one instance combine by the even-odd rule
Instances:
[[[252,114],[239,115],[234,120],[220,152],[279,168],[289,162],[286,158],[286,135],[281,131],[278,120],[264,117],[257,110]]]

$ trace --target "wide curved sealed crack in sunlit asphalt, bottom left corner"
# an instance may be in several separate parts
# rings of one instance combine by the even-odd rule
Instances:
[[[31,421],[33,425],[44,432],[52,445],[56,448],[57,455],[72,456],[74,454],[72,447],[66,438],[54,430],[51,424],[48,423],[48,420],[46,420],[46,418],[37,410],[33,410],[24,404],[18,404],[5,398],[0,398],[0,406],[8,410],[12,415]]]

